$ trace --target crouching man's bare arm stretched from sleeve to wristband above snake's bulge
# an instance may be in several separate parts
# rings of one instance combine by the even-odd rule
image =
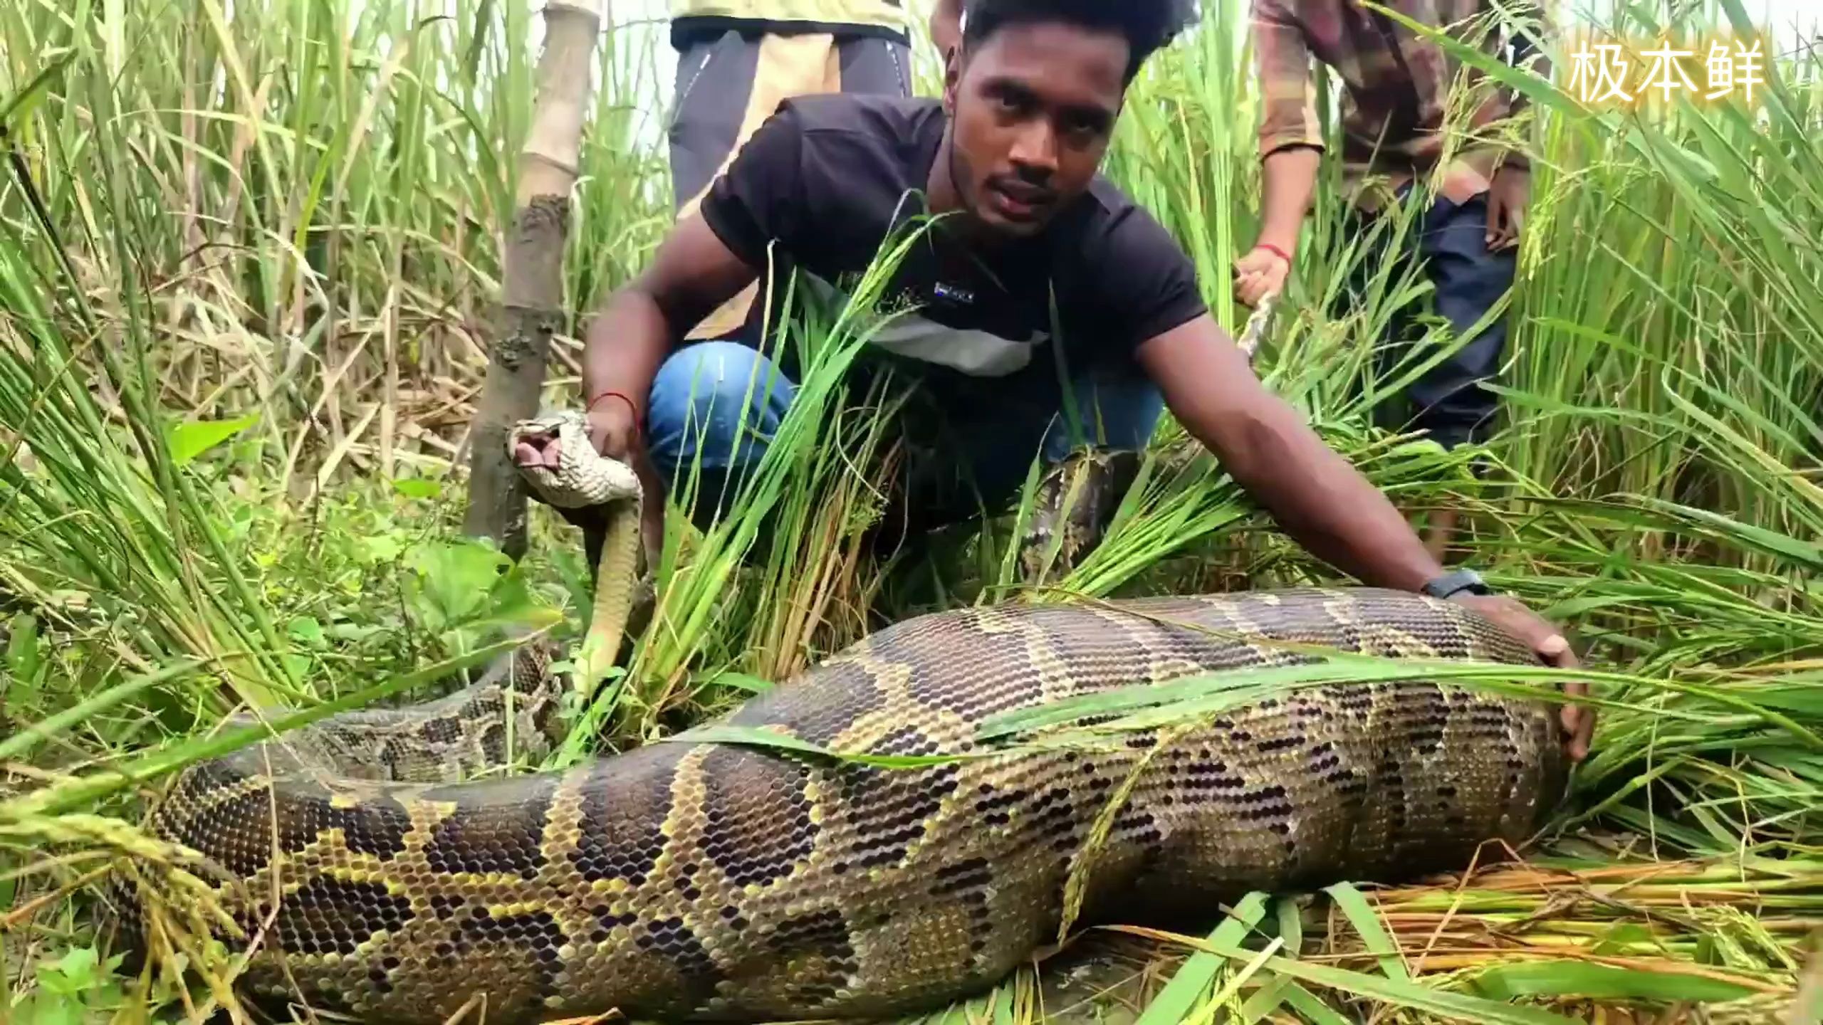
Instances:
[[[1398,509],[1265,390],[1207,314],[1141,345],[1139,363],[1183,429],[1305,551],[1376,587],[1418,591],[1444,573]]]

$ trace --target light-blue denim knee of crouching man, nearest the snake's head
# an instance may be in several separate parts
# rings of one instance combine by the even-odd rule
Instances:
[[[757,465],[797,385],[771,359],[736,341],[700,341],[673,352],[653,378],[647,445],[667,478]]]

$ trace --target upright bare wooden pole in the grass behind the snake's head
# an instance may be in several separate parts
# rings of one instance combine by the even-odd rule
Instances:
[[[520,150],[520,188],[505,239],[498,334],[469,434],[469,511],[463,531],[525,554],[525,491],[507,458],[507,430],[538,412],[551,336],[563,325],[563,246],[582,120],[602,27],[602,0],[545,4],[532,124]]]

